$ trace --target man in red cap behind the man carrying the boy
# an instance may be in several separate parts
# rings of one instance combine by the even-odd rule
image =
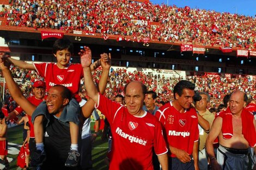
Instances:
[[[29,102],[31,102],[33,105],[38,106],[45,97],[45,82],[44,81],[35,81],[32,87],[32,91],[33,91],[33,96],[28,97],[27,99],[29,100]],[[15,118],[17,115],[21,114],[21,112],[23,111],[23,109],[21,108],[21,106],[17,106],[16,109],[14,109],[14,111],[10,112],[9,116],[7,119],[13,119]],[[33,158],[34,152],[35,152],[35,134],[34,134],[34,125],[31,121],[31,116],[28,116],[28,123],[30,125],[30,138],[29,138],[29,151],[30,151],[30,155],[31,158]]]

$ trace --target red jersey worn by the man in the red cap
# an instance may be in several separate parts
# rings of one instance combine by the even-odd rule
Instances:
[[[27,99],[30,103],[32,103],[35,106],[38,106],[43,101],[43,99],[37,99],[37,98],[35,98],[35,96],[28,97]],[[21,108],[21,106],[17,106],[17,108],[14,109],[14,111],[17,112],[17,114],[21,114],[23,109]],[[30,129],[30,137],[34,138],[35,137],[34,125],[31,121],[31,116],[29,116],[29,115],[27,115],[27,116],[28,116],[28,123],[30,125],[30,128],[29,128]]]

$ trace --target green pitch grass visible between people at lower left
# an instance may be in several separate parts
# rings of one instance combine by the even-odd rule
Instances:
[[[94,131],[94,122],[91,123],[92,133]],[[22,131],[23,125],[17,125],[16,127],[8,128],[8,142],[22,144]],[[95,170],[107,170],[107,166],[104,162],[106,157],[108,143],[107,141],[102,141],[101,136],[96,138],[96,141],[93,144],[92,156],[93,156],[93,169]],[[17,166],[17,155],[8,154],[9,158],[14,160],[10,162],[10,169],[16,170]]]

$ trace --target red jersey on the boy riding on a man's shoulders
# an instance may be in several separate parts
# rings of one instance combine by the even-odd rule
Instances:
[[[70,64],[64,69],[60,69],[56,63],[34,64],[36,72],[45,78],[46,90],[59,84],[71,91],[72,95],[78,94],[80,80],[83,78],[83,68],[81,64]]]

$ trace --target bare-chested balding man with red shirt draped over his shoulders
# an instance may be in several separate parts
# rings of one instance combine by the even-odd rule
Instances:
[[[248,168],[249,147],[254,147],[254,153],[256,152],[256,141],[252,137],[255,135],[256,123],[253,115],[244,109],[246,102],[247,96],[244,92],[232,92],[229,100],[229,108],[223,115],[216,117],[212,124],[206,140],[206,150],[211,161],[212,169]],[[242,123],[245,119],[247,121]],[[231,130],[228,131],[227,129],[230,129],[230,127]],[[247,132],[243,128],[247,128]],[[216,137],[218,137],[220,143],[217,150],[217,159],[213,147]],[[256,167],[254,166],[253,169],[256,169]]]

